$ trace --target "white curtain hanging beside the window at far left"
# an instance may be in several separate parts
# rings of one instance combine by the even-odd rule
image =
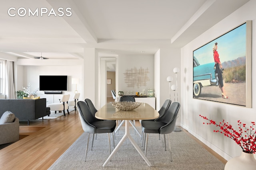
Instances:
[[[14,90],[14,71],[13,61],[6,61],[6,81],[5,81],[6,99],[16,99]]]

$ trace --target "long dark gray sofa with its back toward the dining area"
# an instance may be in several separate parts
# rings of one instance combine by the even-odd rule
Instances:
[[[11,111],[20,120],[36,120],[50,115],[46,111],[46,98],[42,99],[0,99],[0,117],[5,111]]]

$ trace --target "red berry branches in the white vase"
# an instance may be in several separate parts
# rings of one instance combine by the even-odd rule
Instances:
[[[222,133],[224,136],[233,139],[242,148],[243,152],[256,153],[256,133],[254,131],[255,122],[252,121],[250,128],[246,128],[246,124],[238,120],[237,122],[239,130],[236,131],[233,129],[232,125],[230,125],[228,122],[225,122],[224,119],[222,122],[217,124],[215,121],[210,120],[205,116],[200,116],[209,121],[209,123],[206,123],[207,125],[213,124],[216,125],[216,127],[220,127],[220,131],[214,130],[214,132]]]

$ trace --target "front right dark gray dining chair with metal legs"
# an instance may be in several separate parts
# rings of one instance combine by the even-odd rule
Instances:
[[[164,134],[164,144],[166,146],[165,142],[165,134],[167,134],[168,137],[168,143],[170,147],[170,160],[172,161],[172,152],[171,152],[171,145],[170,145],[170,139],[168,134],[172,133],[175,129],[175,124],[178,116],[178,111],[180,109],[180,103],[179,102],[173,102],[168,107],[166,113],[156,121],[143,121],[142,122],[142,132],[146,133],[146,142],[144,147],[145,148],[145,156],[147,154],[147,147],[148,147],[148,136],[149,133],[158,133],[158,134]],[[165,149],[166,150],[166,149]]]

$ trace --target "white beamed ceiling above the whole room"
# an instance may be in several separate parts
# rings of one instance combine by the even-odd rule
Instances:
[[[106,57],[154,55],[159,48],[183,47],[248,1],[8,0],[0,6],[0,57],[34,60],[42,53],[49,59],[83,59],[87,47]],[[8,15],[11,7],[14,17]],[[48,16],[52,8],[60,14],[60,7],[70,7],[72,15]],[[27,14],[18,16],[19,8]],[[38,8],[39,16],[28,16],[28,8]],[[43,16],[41,8],[48,9]]]

